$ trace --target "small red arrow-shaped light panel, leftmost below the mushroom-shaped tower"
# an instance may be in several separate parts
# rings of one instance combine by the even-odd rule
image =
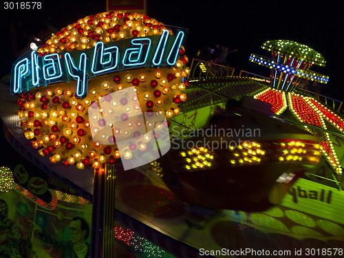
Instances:
[[[253,96],[258,100],[264,101],[265,103],[270,103],[272,105],[271,110],[280,115],[288,108],[286,92],[282,92],[278,89],[268,88],[264,89],[263,92],[259,92]]]

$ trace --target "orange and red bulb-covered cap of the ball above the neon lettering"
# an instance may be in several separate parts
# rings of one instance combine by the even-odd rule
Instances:
[[[97,42],[162,34],[163,23],[138,13],[103,12],[79,19],[53,35],[38,52],[41,54],[85,50]],[[170,33],[171,30],[169,30]]]

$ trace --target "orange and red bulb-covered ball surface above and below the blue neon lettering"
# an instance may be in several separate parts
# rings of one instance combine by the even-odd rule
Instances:
[[[100,41],[107,43],[158,35],[166,30],[162,23],[142,14],[103,12],[63,28],[38,52],[45,56],[56,52],[85,50]],[[169,33],[173,32],[169,30]],[[17,104],[25,138],[31,141],[32,147],[38,149],[40,155],[47,156],[53,163],[75,165],[78,169],[84,169],[85,166],[96,168],[104,162],[114,163],[120,155],[112,133],[116,137],[129,136],[135,132],[133,130],[136,127],[142,127],[143,124],[133,124],[129,117],[123,116],[122,121],[128,120],[127,130],[111,127],[109,133],[102,134],[108,144],[94,142],[92,133],[98,132],[105,122],[100,117],[88,116],[92,103],[98,103],[98,107],[102,106],[100,101],[113,103],[112,109],[100,108],[101,116],[123,113],[122,109],[127,114],[141,109],[142,112],[165,114],[167,119],[172,118],[179,114],[179,103],[186,100],[186,94],[182,94],[182,91],[186,89],[183,81],[190,74],[190,69],[186,67],[188,60],[181,46],[174,67],[134,69],[92,78],[89,81],[89,94],[82,100],[72,83],[52,84],[45,92],[38,88],[22,93]],[[125,96],[121,100],[112,100],[109,95],[133,86],[138,94],[138,104],[133,107],[127,105]],[[92,119],[100,123],[99,127],[90,124]],[[128,145],[124,158],[130,159],[133,152],[145,149],[147,146],[144,142],[135,148]]]

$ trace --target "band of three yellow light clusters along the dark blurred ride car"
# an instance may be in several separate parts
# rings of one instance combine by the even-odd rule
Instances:
[[[181,156],[181,157],[180,157]],[[321,145],[313,140],[247,140],[230,144],[228,149],[211,153],[203,147],[181,151],[176,158],[182,158],[180,166],[186,171],[206,170],[210,167],[251,166],[270,162],[320,162]]]

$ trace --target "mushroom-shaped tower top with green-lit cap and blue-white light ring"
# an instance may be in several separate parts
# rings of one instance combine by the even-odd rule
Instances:
[[[266,41],[261,48],[272,52],[272,58],[251,54],[250,61],[270,68],[272,88],[292,92],[301,79],[327,83],[328,76],[310,70],[312,65],[325,66],[325,59],[307,45],[275,40]]]

